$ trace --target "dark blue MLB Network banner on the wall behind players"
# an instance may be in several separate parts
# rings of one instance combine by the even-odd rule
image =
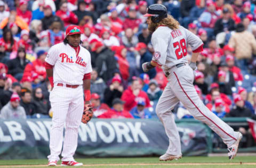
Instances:
[[[183,155],[193,153],[193,149],[197,154],[207,152],[204,125],[187,122],[177,125]],[[46,158],[50,154],[51,126],[49,119],[0,120],[0,159]],[[159,121],[93,119],[78,128],[76,154],[96,157],[161,155],[168,146],[169,139]]]

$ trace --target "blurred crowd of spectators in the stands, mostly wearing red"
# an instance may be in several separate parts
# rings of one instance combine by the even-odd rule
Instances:
[[[141,68],[154,53],[143,17],[154,3],[203,40],[194,84],[206,106],[219,117],[255,117],[256,0],[0,0],[1,118],[52,115],[44,59],[70,24],[91,53],[94,116],[157,117],[167,79],[160,67]],[[173,113],[192,117],[181,103]]]

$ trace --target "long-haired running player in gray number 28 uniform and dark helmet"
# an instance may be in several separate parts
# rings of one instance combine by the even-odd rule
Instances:
[[[179,22],[167,15],[166,7],[153,4],[145,14],[149,31],[153,32],[151,43],[155,53],[150,62],[142,64],[143,71],[161,66],[168,83],[158,100],[156,113],[162,121],[166,135],[169,137],[169,147],[166,153],[159,157],[160,161],[181,158],[180,137],[174,122],[172,110],[180,101],[195,119],[206,123],[216,132],[228,146],[228,157],[236,156],[240,132],[235,132],[228,124],[212,113],[198,97],[194,81],[194,70],[199,52],[203,51],[203,42],[189,30],[179,26]],[[191,62],[188,64],[187,45],[193,49]]]

